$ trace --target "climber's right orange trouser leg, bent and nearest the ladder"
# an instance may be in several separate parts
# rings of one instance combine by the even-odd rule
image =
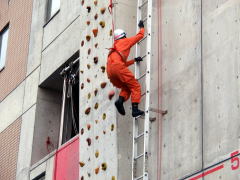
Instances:
[[[124,86],[126,86],[131,91],[131,101],[133,103],[141,102],[141,86],[139,82],[135,79],[132,72],[127,68],[120,70],[120,76],[123,80]]]

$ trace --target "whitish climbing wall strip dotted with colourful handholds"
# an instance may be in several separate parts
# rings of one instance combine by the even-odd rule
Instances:
[[[81,0],[80,40],[80,179],[117,176],[114,90],[106,74],[112,46],[109,0]]]

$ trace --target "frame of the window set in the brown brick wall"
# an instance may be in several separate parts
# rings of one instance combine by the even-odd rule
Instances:
[[[4,62],[1,67],[1,61],[2,61],[2,44],[3,44],[3,36],[7,32],[7,40],[6,40],[6,49],[5,49],[5,57],[4,57]],[[0,31],[0,72],[5,68],[6,66],[6,60],[7,60],[7,50],[8,50],[8,38],[9,38],[9,23],[4,26],[4,28]]]

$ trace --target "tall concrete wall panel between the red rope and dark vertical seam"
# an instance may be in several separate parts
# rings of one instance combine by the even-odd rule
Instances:
[[[163,0],[161,179],[202,167],[201,1]]]

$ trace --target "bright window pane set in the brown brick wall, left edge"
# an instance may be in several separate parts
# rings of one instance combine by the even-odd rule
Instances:
[[[4,68],[7,55],[7,44],[8,44],[8,29],[9,26],[5,27],[0,32],[0,71]]]

